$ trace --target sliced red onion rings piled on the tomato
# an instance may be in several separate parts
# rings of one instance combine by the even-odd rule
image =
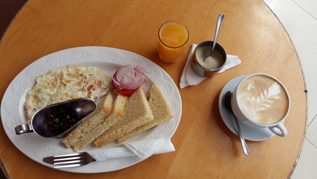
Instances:
[[[146,80],[149,83],[149,80],[146,75],[151,75],[144,68],[136,66],[133,68],[131,65],[122,66],[113,76],[113,86],[116,91],[123,89],[134,90],[139,88],[144,81]]]

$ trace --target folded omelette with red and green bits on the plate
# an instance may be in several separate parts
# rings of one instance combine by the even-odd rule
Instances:
[[[111,79],[92,66],[69,65],[51,70],[38,76],[26,95],[26,123],[30,124],[33,114],[42,107],[76,98],[96,101],[112,88]]]

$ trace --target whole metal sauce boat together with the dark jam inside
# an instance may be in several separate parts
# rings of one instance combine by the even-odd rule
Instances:
[[[34,132],[41,137],[63,138],[96,108],[94,100],[89,98],[52,104],[36,111],[31,119],[31,124],[16,126],[15,131],[17,135]]]

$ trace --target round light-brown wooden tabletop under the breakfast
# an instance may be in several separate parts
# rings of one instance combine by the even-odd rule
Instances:
[[[225,15],[217,42],[242,63],[197,86],[178,86],[191,44],[213,40],[219,14]],[[190,33],[181,58],[166,64],[157,53],[157,34],[169,20]],[[0,44],[3,94],[27,65],[47,54],[79,46],[106,46],[137,53],[162,67],[178,86],[182,117],[171,141],[176,151],[153,155],[131,167],[96,174],[64,172],[23,155],[1,125],[1,168],[8,178],[288,178],[301,153],[307,126],[307,95],[301,64],[287,32],[260,0],[105,1],[30,0]],[[219,94],[231,79],[268,73],[286,86],[291,110],[286,137],[246,141],[224,124]]]

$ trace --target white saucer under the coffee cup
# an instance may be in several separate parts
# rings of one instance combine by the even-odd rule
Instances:
[[[219,97],[219,111],[220,115],[222,117],[223,122],[227,125],[227,127],[236,135],[238,135],[238,129],[236,127],[235,119],[233,118],[232,114],[227,111],[227,109],[224,107],[224,95],[227,91],[233,92],[233,90],[236,88],[238,83],[244,78],[245,76],[239,76],[235,79],[230,80],[222,89]],[[266,139],[269,139],[273,137],[275,134],[268,128],[253,128],[244,125],[239,120],[239,125],[241,128],[242,135],[244,139],[250,140],[250,141],[263,141]]]

